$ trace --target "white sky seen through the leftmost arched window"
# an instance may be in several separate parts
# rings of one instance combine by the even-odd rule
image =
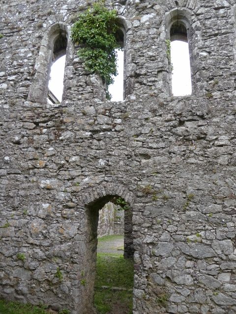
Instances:
[[[53,63],[51,67],[50,81],[48,83],[48,88],[60,102],[63,93],[64,71],[65,71],[65,55],[63,55]]]

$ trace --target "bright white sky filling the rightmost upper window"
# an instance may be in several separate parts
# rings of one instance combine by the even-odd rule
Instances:
[[[191,95],[191,71],[188,43],[175,40],[171,42],[172,93],[174,96]]]

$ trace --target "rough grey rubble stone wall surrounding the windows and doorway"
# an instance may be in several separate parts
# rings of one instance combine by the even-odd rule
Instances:
[[[63,100],[50,106],[37,89],[47,66],[35,62],[50,26],[69,34],[87,3],[0,0],[2,297],[92,313],[91,209],[118,195],[133,216],[134,314],[236,312],[234,4],[114,2],[126,28],[126,101],[104,102],[69,41]],[[188,97],[170,93],[166,19],[177,5],[191,24]]]

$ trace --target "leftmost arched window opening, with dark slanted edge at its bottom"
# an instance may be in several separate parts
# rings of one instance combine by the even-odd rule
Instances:
[[[49,104],[59,104],[62,100],[66,47],[66,33],[64,31],[60,31],[58,36],[55,38],[53,46],[53,64],[50,68],[48,83]]]

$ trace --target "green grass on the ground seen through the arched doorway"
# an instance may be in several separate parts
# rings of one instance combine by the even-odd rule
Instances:
[[[132,314],[133,261],[119,254],[97,253],[96,267],[94,305],[98,314],[107,314],[118,304],[125,308],[125,314]],[[128,290],[117,291],[102,286]]]

